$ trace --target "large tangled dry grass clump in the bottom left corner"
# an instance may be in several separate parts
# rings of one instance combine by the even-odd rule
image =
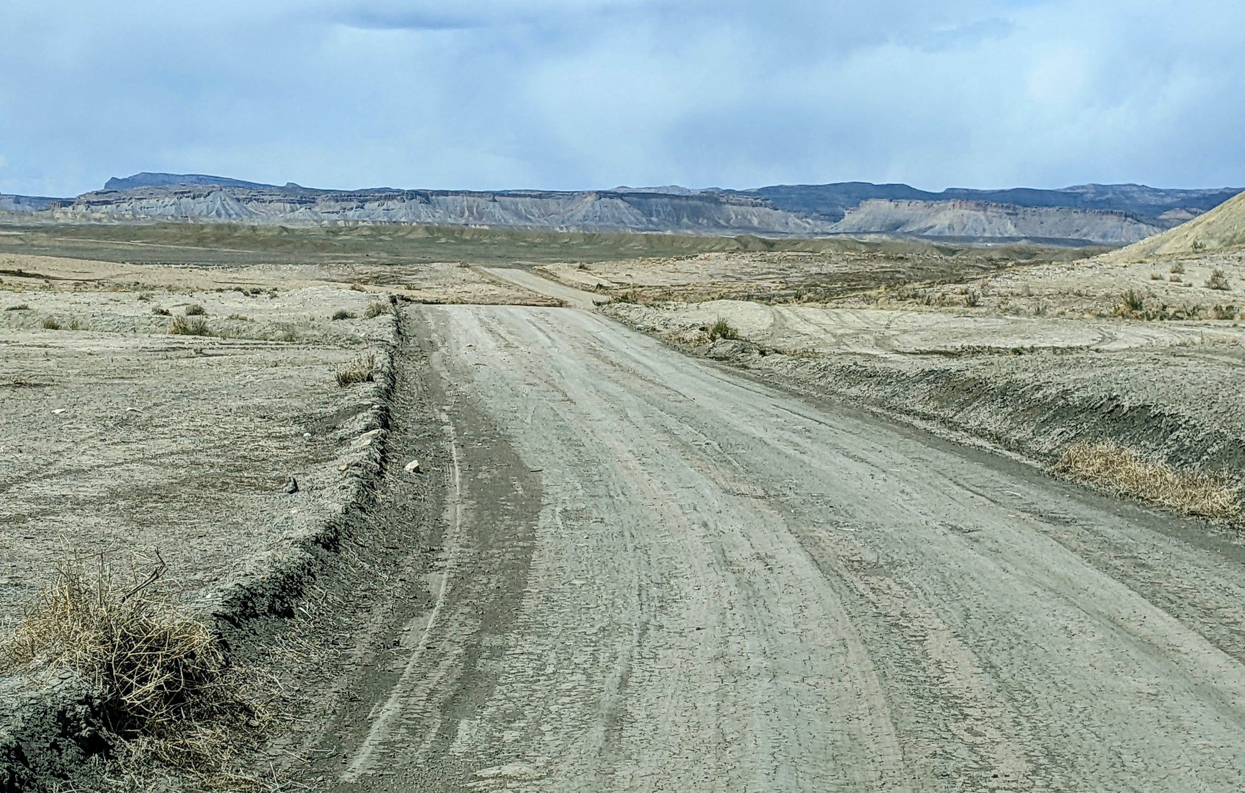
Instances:
[[[68,667],[102,703],[115,759],[131,772],[157,763],[237,778],[242,746],[269,722],[245,696],[248,673],[219,639],[159,593],[163,560],[118,575],[103,555],[60,565],[12,636],[0,671]]]

